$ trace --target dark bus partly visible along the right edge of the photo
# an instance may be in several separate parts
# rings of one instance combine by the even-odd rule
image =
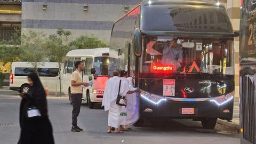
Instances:
[[[256,143],[256,1],[241,0],[239,120],[241,143]]]

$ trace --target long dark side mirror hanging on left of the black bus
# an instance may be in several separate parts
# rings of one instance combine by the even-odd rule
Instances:
[[[137,57],[141,56],[141,50],[142,50],[142,38],[141,38],[141,31],[138,28],[135,28],[134,34],[133,34],[133,46],[134,46],[134,54]]]

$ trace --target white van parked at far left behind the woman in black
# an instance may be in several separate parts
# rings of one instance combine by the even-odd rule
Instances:
[[[34,71],[29,62],[12,62],[10,75],[10,90],[21,90],[26,93],[29,90],[28,74]],[[57,83],[59,66],[57,62],[39,62],[38,74],[44,88],[47,86],[49,92],[54,92],[59,87]]]

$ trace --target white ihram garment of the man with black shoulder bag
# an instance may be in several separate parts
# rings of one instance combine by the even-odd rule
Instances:
[[[104,106],[105,111],[108,110],[108,126],[118,128],[119,118],[121,113],[121,106],[116,105],[116,98],[119,89],[120,78],[114,76],[109,78],[102,99],[102,106]],[[121,83],[120,94],[125,95],[129,91],[129,87]]]

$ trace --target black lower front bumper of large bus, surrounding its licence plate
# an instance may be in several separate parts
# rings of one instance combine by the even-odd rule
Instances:
[[[233,117],[234,100],[230,100],[224,105],[217,105],[212,101],[183,102],[183,101],[162,101],[153,103],[145,99],[140,100],[141,118],[180,118],[195,119],[201,118],[220,118],[231,120]],[[182,108],[194,109],[194,114],[182,114]]]

